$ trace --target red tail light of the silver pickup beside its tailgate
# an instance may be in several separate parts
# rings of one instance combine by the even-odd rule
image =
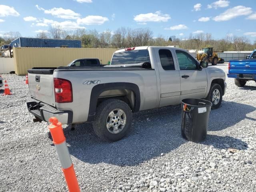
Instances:
[[[73,102],[71,82],[66,79],[54,78],[54,94],[56,103]]]

